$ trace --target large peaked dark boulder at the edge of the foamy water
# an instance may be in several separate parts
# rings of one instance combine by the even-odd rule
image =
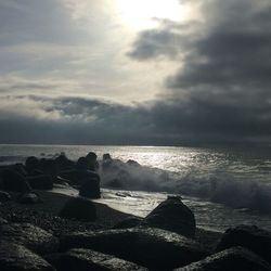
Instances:
[[[192,210],[178,196],[169,196],[160,203],[142,222],[186,237],[195,236],[195,217]]]

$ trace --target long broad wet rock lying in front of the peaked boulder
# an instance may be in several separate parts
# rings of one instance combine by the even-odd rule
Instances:
[[[79,232],[61,240],[61,250],[76,247],[114,255],[152,270],[171,270],[208,255],[197,242],[154,228]]]

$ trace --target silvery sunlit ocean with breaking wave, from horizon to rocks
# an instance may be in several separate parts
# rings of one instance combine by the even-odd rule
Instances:
[[[88,152],[99,159],[137,160],[133,183],[111,190],[102,177],[102,198],[112,208],[144,217],[168,194],[181,195],[194,211],[198,227],[224,231],[236,224],[271,230],[271,147],[173,147],[104,145],[0,145],[0,165],[26,157],[54,157],[64,152],[77,160]],[[76,195],[77,191],[55,189]]]

